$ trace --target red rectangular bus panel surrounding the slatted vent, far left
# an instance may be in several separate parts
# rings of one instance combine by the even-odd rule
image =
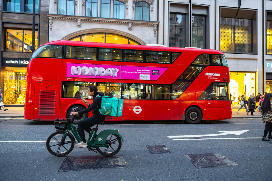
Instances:
[[[35,81],[33,120],[46,121],[59,117],[60,81]]]

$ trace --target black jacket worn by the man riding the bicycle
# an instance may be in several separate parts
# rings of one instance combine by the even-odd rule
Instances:
[[[84,109],[84,110],[80,110],[78,113],[79,114],[84,114],[84,113],[89,113],[90,111],[92,111],[93,115],[100,115],[99,113],[99,109],[101,108],[101,99],[104,96],[103,92],[97,92],[96,94],[94,94],[92,96],[92,103],[89,104],[89,106]],[[104,115],[101,115],[102,117],[104,117]]]

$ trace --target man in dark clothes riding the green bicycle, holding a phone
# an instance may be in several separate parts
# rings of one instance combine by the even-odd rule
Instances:
[[[90,96],[92,96],[92,100],[93,100],[92,104],[89,104],[85,99],[83,99],[83,102],[87,104],[88,107],[84,110],[80,110],[79,112],[70,113],[70,115],[77,115],[77,114],[89,113],[90,111],[92,111],[92,114],[93,114],[92,117],[83,119],[78,122],[78,131],[82,141],[80,141],[78,144],[75,145],[77,147],[88,146],[88,144],[86,143],[84,130],[90,134],[90,132],[92,131],[91,127],[93,125],[104,122],[106,117],[105,115],[102,115],[99,113],[99,109],[101,107],[101,99],[102,99],[101,96],[104,96],[104,93],[98,92],[97,87],[94,85],[89,85],[88,93]]]

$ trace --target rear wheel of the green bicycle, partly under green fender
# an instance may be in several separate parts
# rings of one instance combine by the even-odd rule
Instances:
[[[109,144],[108,147],[97,147],[98,153],[102,154],[103,156],[106,157],[111,157],[120,151],[121,146],[122,146],[122,141],[120,136],[111,134],[108,135],[106,139],[106,144]]]

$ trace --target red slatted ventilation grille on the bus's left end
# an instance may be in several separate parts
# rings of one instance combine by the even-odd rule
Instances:
[[[40,90],[39,116],[55,116],[56,91]]]

